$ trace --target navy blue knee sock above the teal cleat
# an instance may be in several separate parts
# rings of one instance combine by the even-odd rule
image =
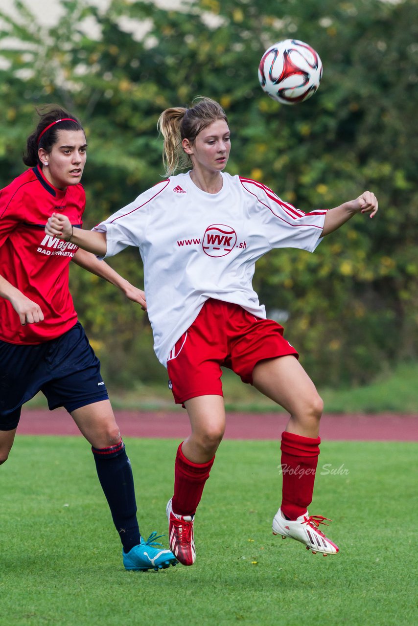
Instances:
[[[96,463],[98,480],[102,485],[112,513],[113,523],[122,541],[123,550],[129,552],[140,542],[137,521],[137,503],[130,460],[125,452],[125,444],[109,448],[93,448],[91,451]]]

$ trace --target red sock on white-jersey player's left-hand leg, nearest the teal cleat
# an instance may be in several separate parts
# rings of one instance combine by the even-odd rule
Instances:
[[[215,457],[207,463],[192,463],[185,458],[181,446],[180,443],[175,457],[172,508],[177,515],[194,515]]]

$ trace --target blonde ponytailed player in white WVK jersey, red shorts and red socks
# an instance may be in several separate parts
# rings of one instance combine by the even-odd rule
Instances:
[[[193,523],[225,428],[221,366],[230,367],[290,413],[281,439],[283,495],[273,534],[291,537],[324,555],[338,547],[310,516],[323,403],[283,338],[266,319],[251,280],[254,264],[272,248],[313,252],[321,237],[355,213],[374,217],[377,200],[364,192],[331,210],[304,213],[261,183],[224,170],[231,142],[216,102],[170,108],[159,119],[169,178],[99,224],[73,230],[53,215],[46,232],[99,257],[137,246],[155,352],[167,366],[175,402],[183,404],[191,434],[175,459],[174,496],[167,504],[170,547],[184,565],[196,558]],[[177,168],[192,166],[173,175]]]

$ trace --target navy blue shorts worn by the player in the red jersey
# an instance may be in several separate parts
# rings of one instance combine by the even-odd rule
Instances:
[[[68,413],[108,399],[100,361],[80,322],[36,346],[0,341],[0,430],[18,426],[22,405],[42,391],[48,407]]]

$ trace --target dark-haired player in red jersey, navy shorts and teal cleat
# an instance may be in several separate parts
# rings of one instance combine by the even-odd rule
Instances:
[[[98,478],[122,541],[127,570],[175,565],[157,533],[145,541],[137,522],[132,469],[120,438],[100,362],[77,321],[68,290],[70,261],[108,280],[146,307],[133,287],[95,255],[44,233],[55,212],[81,228],[80,185],[86,136],[67,111],[47,106],[29,136],[29,169],[0,192],[0,464],[8,459],[22,405],[42,391],[50,409],[64,406],[91,444]]]

